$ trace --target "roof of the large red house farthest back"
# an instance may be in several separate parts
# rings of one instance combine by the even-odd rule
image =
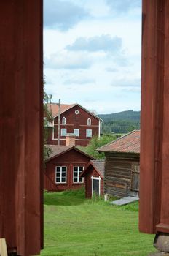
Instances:
[[[69,104],[60,104],[60,115],[75,106],[79,106],[79,108],[82,108],[87,113],[90,113],[90,115],[94,116],[98,120],[103,121],[101,118],[99,118],[98,116],[95,116],[95,114],[91,113],[89,110],[83,108],[81,105],[79,105],[77,103],[70,104],[70,105]],[[48,110],[50,110],[50,112],[52,114],[52,118],[55,118],[58,116],[58,111],[59,111],[58,103],[48,103],[47,108],[48,108]]]

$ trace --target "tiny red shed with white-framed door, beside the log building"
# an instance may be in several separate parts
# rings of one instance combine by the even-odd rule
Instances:
[[[91,160],[81,174],[85,181],[85,195],[87,198],[93,195],[103,195],[104,160]]]

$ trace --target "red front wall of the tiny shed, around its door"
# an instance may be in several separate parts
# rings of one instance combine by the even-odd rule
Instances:
[[[98,172],[95,170],[95,168],[90,165],[87,168],[87,172],[84,176],[84,181],[85,181],[85,196],[87,198],[92,197],[92,179],[91,177],[99,177]],[[103,178],[101,178],[101,195],[104,194],[104,188],[103,188]]]

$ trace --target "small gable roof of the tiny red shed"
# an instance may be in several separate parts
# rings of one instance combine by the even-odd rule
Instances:
[[[87,167],[82,172],[81,176],[84,177],[87,174],[89,167],[93,166],[94,169],[97,171],[98,175],[101,176],[101,178],[104,178],[104,165],[105,160],[90,160]]]

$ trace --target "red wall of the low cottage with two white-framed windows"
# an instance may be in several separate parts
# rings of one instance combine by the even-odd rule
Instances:
[[[78,189],[83,187],[84,183],[73,183],[73,167],[86,166],[90,161],[89,157],[80,154],[78,151],[72,149],[65,154],[60,155],[46,162],[46,169],[44,172],[44,189],[47,191],[63,191],[66,189]],[[55,183],[55,167],[67,167],[67,182],[62,184]]]

